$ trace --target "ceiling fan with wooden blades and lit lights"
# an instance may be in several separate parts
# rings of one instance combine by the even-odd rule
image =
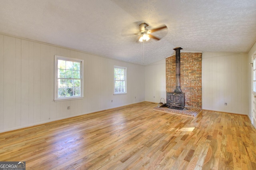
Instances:
[[[137,35],[140,35],[140,39],[139,39],[140,42],[143,42],[144,40],[148,41],[150,38],[153,38],[155,40],[160,40],[160,38],[152,36],[151,33],[162,30],[164,28],[167,28],[167,26],[162,26],[162,27],[159,27],[159,28],[148,30],[146,28],[146,27],[148,27],[148,24],[146,24],[145,22],[141,23],[139,26],[140,26],[140,33],[138,33]]]

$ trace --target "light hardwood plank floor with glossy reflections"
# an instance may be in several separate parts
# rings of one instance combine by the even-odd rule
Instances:
[[[196,118],[143,102],[0,133],[0,161],[49,169],[256,170],[256,130],[246,115]]]

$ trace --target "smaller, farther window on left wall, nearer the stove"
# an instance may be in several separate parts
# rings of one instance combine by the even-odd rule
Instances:
[[[126,67],[114,66],[114,94],[126,93]]]

